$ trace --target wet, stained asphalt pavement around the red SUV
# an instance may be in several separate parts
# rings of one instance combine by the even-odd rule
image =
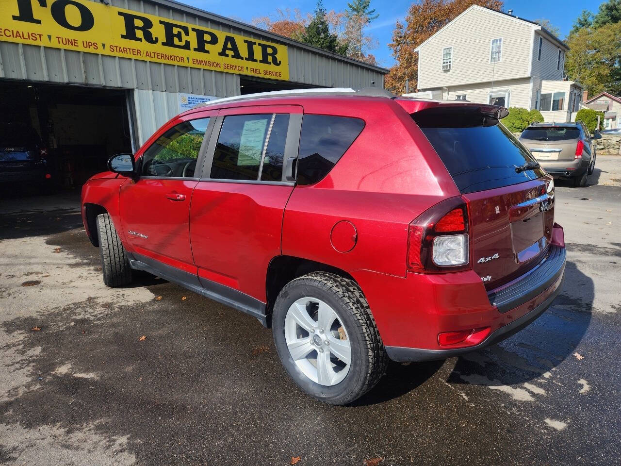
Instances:
[[[75,194],[2,199],[0,463],[621,464],[621,157],[589,184],[557,183],[542,317],[343,407],[297,389],[256,319],[148,274],[106,288]]]

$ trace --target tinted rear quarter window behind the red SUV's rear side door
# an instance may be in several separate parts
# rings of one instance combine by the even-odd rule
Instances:
[[[297,183],[312,185],[322,180],[362,132],[358,118],[304,115],[297,160]]]

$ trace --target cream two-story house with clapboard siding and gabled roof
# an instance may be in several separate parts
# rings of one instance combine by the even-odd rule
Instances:
[[[408,94],[538,109],[570,121],[582,86],[563,80],[569,48],[535,22],[473,5],[416,48],[418,89]]]

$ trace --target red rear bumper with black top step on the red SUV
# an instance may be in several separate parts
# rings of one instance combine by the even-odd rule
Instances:
[[[563,283],[562,228],[555,224],[553,233],[548,254],[537,267],[489,293],[473,270],[407,273],[404,278],[355,273],[389,357],[399,362],[445,359],[499,342],[527,326],[550,306]],[[440,333],[473,329],[485,329],[486,337],[438,343]]]

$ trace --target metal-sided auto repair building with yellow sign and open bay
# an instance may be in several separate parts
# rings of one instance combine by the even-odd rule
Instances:
[[[387,72],[171,0],[0,1],[0,125],[32,127],[66,186],[196,104]]]

